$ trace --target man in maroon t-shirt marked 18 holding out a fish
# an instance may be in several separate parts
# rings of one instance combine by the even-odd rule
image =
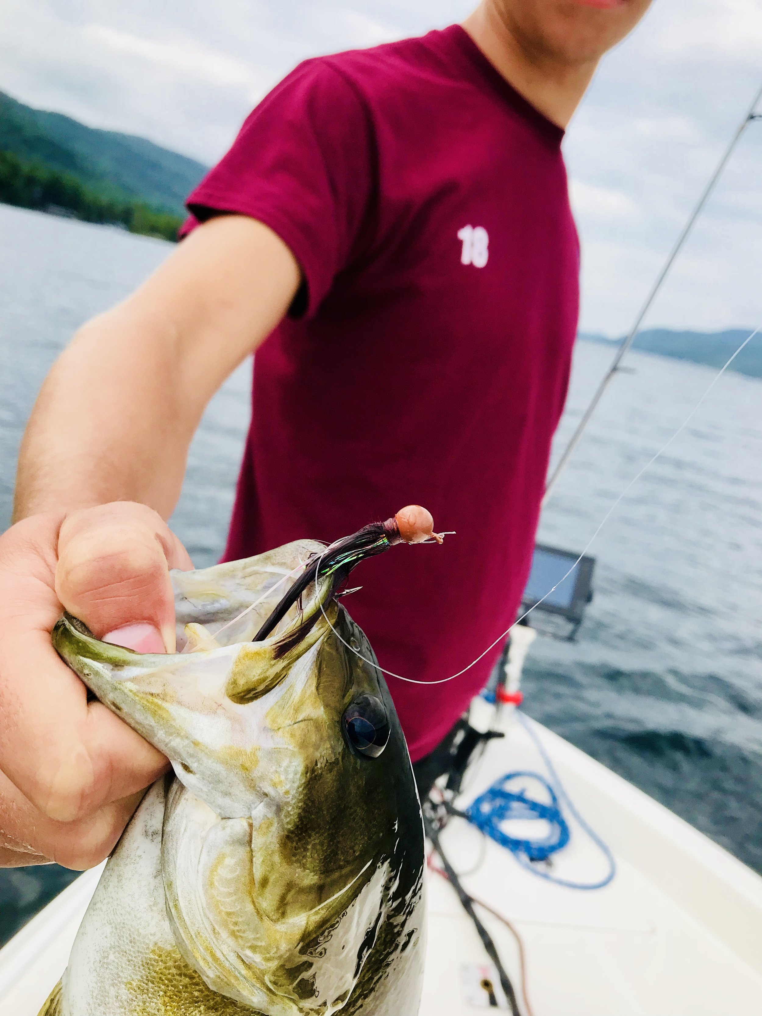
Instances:
[[[166,765],[87,701],[50,631],[63,606],[173,650],[168,570],[191,563],[163,519],[207,400],[252,350],[227,557],[419,502],[457,535],[366,566],[352,613],[382,665],[441,680],[509,626],[577,321],[563,129],[647,6],[483,0],[462,26],[308,61],[191,195],[187,239],[80,329],[0,539],[2,863],[96,864]],[[497,651],[447,684],[389,679],[414,759]]]

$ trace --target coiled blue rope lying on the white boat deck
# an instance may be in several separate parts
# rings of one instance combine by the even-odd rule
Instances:
[[[516,717],[534,742],[551,779],[548,780],[536,772],[509,772],[477,798],[463,814],[485,836],[489,836],[496,843],[500,843],[501,846],[510,850],[521,867],[531,872],[532,875],[569,889],[602,889],[604,886],[609,885],[617,872],[614,854],[574,807],[542,741],[518,709]],[[525,790],[511,790],[509,788],[513,780],[522,777],[530,777],[542,783],[548,790],[550,801],[546,803],[535,801],[533,798],[528,798]],[[561,801],[565,802],[578,825],[587,833],[609,862],[609,872],[605,878],[597,882],[571,882],[568,879],[557,878],[536,867],[536,862],[547,861],[569,842],[569,825],[561,811]],[[544,819],[549,823],[550,830],[546,836],[533,839],[510,836],[503,828],[503,823],[511,819]]]

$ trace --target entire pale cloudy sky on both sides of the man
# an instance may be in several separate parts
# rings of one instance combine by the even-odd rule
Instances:
[[[475,0],[0,0],[0,89],[211,164],[300,60],[421,35]],[[655,0],[564,142],[580,327],[626,332],[762,84],[762,0]],[[762,112],[762,104],[760,104]],[[644,322],[762,324],[762,120]]]

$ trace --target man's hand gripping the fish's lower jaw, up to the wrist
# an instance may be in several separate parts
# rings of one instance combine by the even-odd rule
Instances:
[[[166,523],[138,504],[35,515],[0,537],[0,864],[91,867],[166,768],[155,748],[87,701],[50,632],[66,609],[100,637],[174,649],[169,570],[190,567]]]

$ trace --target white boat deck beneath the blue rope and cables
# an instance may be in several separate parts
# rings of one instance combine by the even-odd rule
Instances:
[[[544,772],[523,727],[509,716],[505,727],[507,738],[491,743],[463,803],[509,770]],[[566,889],[524,872],[490,841],[478,871],[463,878],[520,934],[533,1016],[762,1016],[762,878],[582,752],[533,728],[618,864],[604,889]],[[570,824],[572,839],[554,873],[593,880],[606,861]],[[458,871],[472,868],[484,847],[459,819],[442,845]],[[66,965],[99,874],[77,879],[0,950],[0,1016],[37,1016]],[[473,1016],[489,1007],[479,988],[487,957],[447,882],[431,874],[429,890],[421,1016]],[[481,915],[523,1006],[515,940]]]

